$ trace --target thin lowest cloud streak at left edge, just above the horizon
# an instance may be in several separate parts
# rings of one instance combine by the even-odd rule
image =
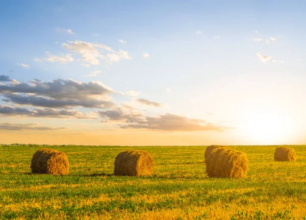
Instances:
[[[13,124],[9,123],[2,123],[0,124],[0,130],[62,130],[67,129],[65,127],[53,128],[53,127],[46,127],[46,126],[39,126],[38,124]]]

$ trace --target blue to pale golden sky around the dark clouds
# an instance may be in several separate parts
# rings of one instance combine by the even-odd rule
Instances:
[[[171,132],[177,136],[197,139],[197,144],[211,144],[220,139],[225,144],[278,144],[289,143],[292,137],[298,140],[296,143],[301,143],[299,133],[306,129],[300,111],[306,107],[301,102],[306,95],[303,88],[306,80],[305,5],[303,1],[3,1],[0,7],[0,75],[28,86],[33,79],[45,82],[71,79],[84,84],[99,81],[115,91],[103,98],[112,99],[116,105],[109,108],[49,107],[56,111],[97,114],[98,111],[121,109],[122,104],[126,104],[143,116],[141,122],[139,118],[138,122],[132,122],[129,131],[118,127],[119,122],[131,124],[124,121],[126,118],[120,121],[101,114],[101,118],[108,119],[107,123],[100,123],[97,116],[95,120],[73,117],[63,120],[20,113],[3,114],[0,123],[16,124],[22,119],[24,123],[35,121],[39,126],[65,127],[63,132],[67,133],[76,129],[70,124],[80,125],[80,132],[90,130],[88,126],[95,132],[97,129],[139,132],[139,126],[150,136],[153,132],[154,135],[169,132],[168,125],[177,126],[180,120],[164,121],[161,117],[173,114],[186,117],[182,120],[199,119],[208,123],[188,121],[191,124],[185,128],[171,127]],[[98,51],[90,61],[83,56],[84,50],[77,51],[73,47],[85,45],[84,42]],[[94,49],[87,49],[92,49],[89,52],[92,56]],[[127,53],[124,55],[122,51]],[[48,54],[53,60],[48,59]],[[118,56],[120,60],[116,61]],[[93,73],[96,75],[85,77]],[[12,88],[16,86],[12,82],[3,83],[11,85],[5,92],[13,93]],[[129,91],[137,96],[128,95]],[[42,96],[58,98],[47,93]],[[136,99],[157,102],[160,106]],[[46,107],[35,103],[20,104],[12,99],[2,100],[0,104],[31,110]],[[130,110],[125,109],[125,114],[131,114]],[[160,129],[144,128],[143,120],[148,120],[145,117],[158,119],[157,124],[148,126],[158,125]],[[250,118],[258,120],[254,122]],[[278,124],[284,118],[288,118],[287,124]],[[209,123],[222,131],[197,127]],[[167,128],[162,124],[167,124]],[[295,132],[279,130],[279,126],[290,127]],[[263,127],[286,134],[286,139],[280,139],[275,133],[270,133],[271,138],[268,138],[261,132],[265,130]],[[10,134],[29,132],[27,128],[24,130],[13,130]],[[241,137],[245,130],[248,134]],[[208,133],[214,138],[207,139]],[[171,135],[162,139],[170,140]],[[169,140],[165,143],[171,144]],[[147,144],[135,142],[143,143]],[[103,140],[94,144],[103,144]]]

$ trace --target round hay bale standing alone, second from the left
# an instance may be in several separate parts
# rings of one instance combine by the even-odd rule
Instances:
[[[148,176],[154,169],[150,154],[142,150],[128,150],[119,153],[115,159],[114,174],[118,176]]]

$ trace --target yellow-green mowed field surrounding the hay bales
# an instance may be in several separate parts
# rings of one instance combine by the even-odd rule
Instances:
[[[231,146],[249,160],[245,179],[208,178],[206,146],[47,146],[64,151],[70,174],[31,174],[41,146],[3,145],[1,219],[306,219],[306,146],[274,162],[277,146]],[[113,176],[115,157],[145,150],[151,177]]]

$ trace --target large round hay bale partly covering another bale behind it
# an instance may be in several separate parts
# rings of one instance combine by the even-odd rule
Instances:
[[[248,171],[247,155],[227,147],[212,149],[205,162],[209,177],[243,178]]]

